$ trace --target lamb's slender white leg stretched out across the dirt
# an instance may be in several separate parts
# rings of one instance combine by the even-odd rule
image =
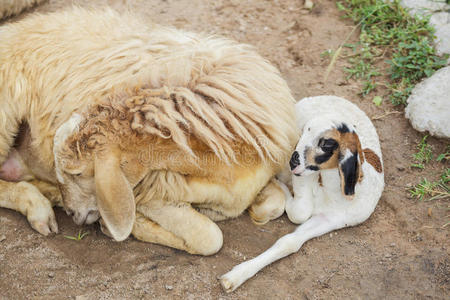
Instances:
[[[220,277],[220,283],[225,291],[232,292],[265,266],[297,252],[306,241],[344,226],[344,215],[312,216],[294,232],[280,238],[259,256],[235,266],[230,272]]]

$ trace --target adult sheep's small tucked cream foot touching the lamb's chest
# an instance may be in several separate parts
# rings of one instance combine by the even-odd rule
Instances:
[[[250,217],[255,224],[265,224],[284,213],[284,206],[288,196],[283,188],[283,183],[272,179],[256,196],[255,202],[248,209]]]

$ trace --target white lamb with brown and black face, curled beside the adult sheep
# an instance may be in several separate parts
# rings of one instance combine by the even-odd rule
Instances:
[[[289,162],[294,197],[286,213],[297,229],[259,256],[220,277],[231,292],[272,262],[297,252],[306,241],[364,222],[384,189],[380,143],[370,119],[356,105],[335,96],[296,104],[303,134]],[[281,179],[281,176],[280,176]]]

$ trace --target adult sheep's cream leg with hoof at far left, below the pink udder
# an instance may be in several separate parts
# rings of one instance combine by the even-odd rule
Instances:
[[[58,232],[50,201],[31,183],[0,180],[0,207],[22,213],[31,227],[43,235]]]

